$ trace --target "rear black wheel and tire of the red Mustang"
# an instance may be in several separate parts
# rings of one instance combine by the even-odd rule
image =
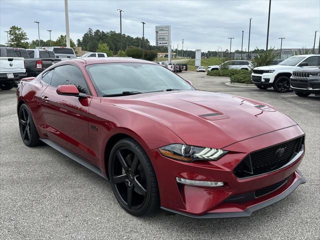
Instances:
[[[22,104],[18,112],[19,129],[22,141],[27,146],[39,144],[39,135],[36,131],[31,113],[25,104]]]

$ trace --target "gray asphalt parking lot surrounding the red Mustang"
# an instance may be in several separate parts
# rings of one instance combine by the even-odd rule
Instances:
[[[107,180],[53,148],[25,146],[15,89],[0,91],[1,239],[319,239],[320,97],[227,86],[226,78],[181,72],[197,89],[264,101],[293,118],[306,134],[300,170],[307,182],[246,218],[134,217],[117,203]],[[248,123],[249,127],[249,123]]]

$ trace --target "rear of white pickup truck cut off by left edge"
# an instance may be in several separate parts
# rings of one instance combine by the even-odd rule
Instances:
[[[0,89],[11,89],[23,77],[26,77],[23,57],[0,57]]]

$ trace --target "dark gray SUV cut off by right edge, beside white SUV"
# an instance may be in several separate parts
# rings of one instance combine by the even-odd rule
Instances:
[[[298,96],[320,95],[320,66],[294,70],[290,86]]]

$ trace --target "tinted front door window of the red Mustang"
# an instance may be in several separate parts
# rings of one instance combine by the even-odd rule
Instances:
[[[57,87],[63,84],[73,84],[78,88],[79,92],[89,93],[85,79],[76,66],[62,65],[54,68],[51,85]]]

